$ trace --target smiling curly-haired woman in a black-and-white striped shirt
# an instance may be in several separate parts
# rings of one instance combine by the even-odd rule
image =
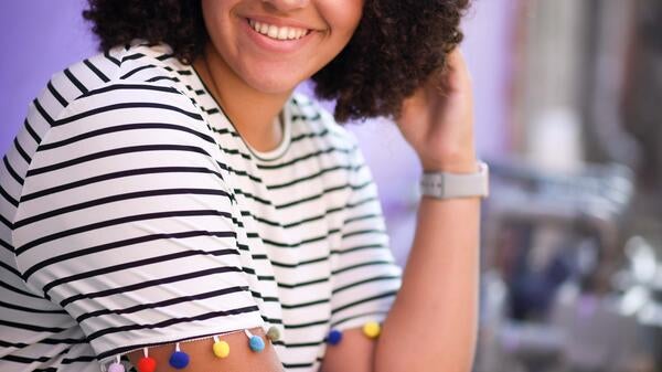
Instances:
[[[470,370],[467,0],[89,6],[104,53],[53,75],[3,158],[1,371]],[[292,93],[309,77],[334,117]],[[380,115],[447,182],[404,275],[334,120]]]

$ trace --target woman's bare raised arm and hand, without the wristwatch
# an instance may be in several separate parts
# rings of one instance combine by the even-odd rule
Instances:
[[[444,88],[438,86],[442,84]],[[408,98],[398,120],[430,171],[476,172],[470,76],[459,51],[448,73]],[[359,329],[329,348],[324,372],[471,370],[479,279],[478,198],[423,198],[397,298],[376,342]]]

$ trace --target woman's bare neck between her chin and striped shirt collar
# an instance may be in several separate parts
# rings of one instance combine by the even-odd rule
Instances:
[[[244,141],[258,151],[270,151],[282,140],[282,128],[274,124],[291,92],[268,94],[247,85],[214,47],[193,62],[200,77]]]

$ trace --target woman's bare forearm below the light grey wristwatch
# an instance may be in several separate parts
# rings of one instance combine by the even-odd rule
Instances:
[[[471,370],[480,199],[423,198],[414,244],[375,350],[375,371]]]

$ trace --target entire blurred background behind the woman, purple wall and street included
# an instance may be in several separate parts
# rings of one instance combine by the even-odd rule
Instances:
[[[0,4],[2,153],[95,53],[84,6]],[[474,0],[463,30],[492,173],[476,371],[662,371],[662,0]],[[349,127],[404,265],[416,157],[387,120]]]

